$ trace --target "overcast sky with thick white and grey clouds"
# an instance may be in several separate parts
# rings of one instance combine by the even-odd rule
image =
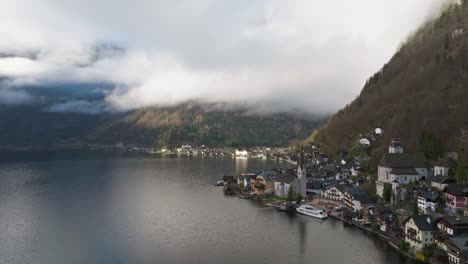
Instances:
[[[195,99],[330,113],[444,2],[2,0],[0,102],[31,101],[26,84],[111,83],[107,109]]]

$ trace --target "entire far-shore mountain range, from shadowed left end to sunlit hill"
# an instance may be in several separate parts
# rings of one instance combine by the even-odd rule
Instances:
[[[0,106],[0,147],[287,146],[304,140],[319,119],[288,113],[255,114],[209,105],[148,107],[125,113],[57,112],[49,105]]]

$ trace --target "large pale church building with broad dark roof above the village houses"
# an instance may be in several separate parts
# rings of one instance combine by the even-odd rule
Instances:
[[[383,196],[385,183],[407,184],[427,176],[427,159],[423,153],[386,153],[377,169],[377,194]]]

